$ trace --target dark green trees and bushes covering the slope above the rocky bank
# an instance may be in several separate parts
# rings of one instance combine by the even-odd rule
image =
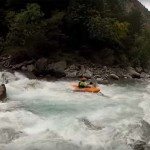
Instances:
[[[1,54],[20,53],[36,59],[77,52],[97,63],[109,57],[113,60],[110,65],[149,64],[149,12],[144,10],[146,17],[136,7],[128,12],[128,0],[0,0],[0,3]],[[103,62],[99,61],[102,58]]]

